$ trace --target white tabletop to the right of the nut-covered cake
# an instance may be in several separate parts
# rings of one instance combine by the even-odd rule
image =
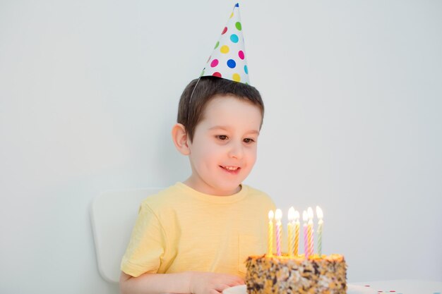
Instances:
[[[391,280],[352,284],[374,288],[378,294],[442,294],[442,281]]]

